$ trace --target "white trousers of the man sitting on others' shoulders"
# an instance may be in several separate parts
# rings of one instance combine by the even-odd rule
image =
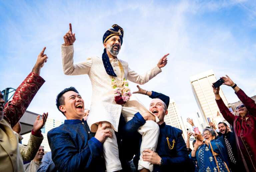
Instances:
[[[145,112],[150,112],[142,103],[135,97],[131,96],[130,101],[127,101],[122,107],[122,114],[125,118],[125,122],[131,120],[135,113],[139,112],[143,114]],[[151,113],[151,112],[150,112]],[[155,115],[154,115],[155,116]],[[155,116],[156,121],[159,119]],[[102,126],[109,122],[102,122]],[[103,154],[105,158],[105,164],[107,172],[113,172],[121,170],[121,162],[119,160],[118,154],[118,145],[117,139],[115,135],[115,130],[112,125],[110,131],[112,132],[112,138],[107,137],[105,142],[103,143]],[[145,149],[150,149],[152,151],[156,151],[157,141],[159,136],[159,126],[156,122],[152,120],[147,120],[144,125],[138,128],[137,130],[142,135],[142,142],[140,146],[140,159],[138,163],[138,170],[146,168],[150,171],[153,171],[153,164],[147,161],[143,161],[142,153]]]

